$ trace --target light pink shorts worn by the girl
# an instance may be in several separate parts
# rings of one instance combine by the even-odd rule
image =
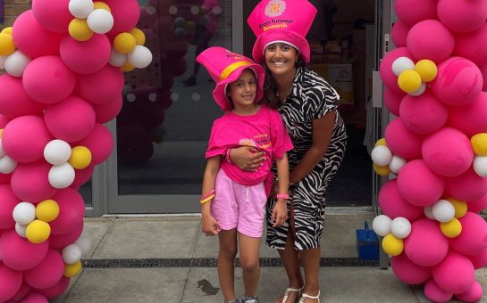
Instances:
[[[211,214],[221,229],[237,227],[239,233],[249,237],[262,236],[267,201],[264,183],[252,186],[238,184],[220,169],[214,191]]]

